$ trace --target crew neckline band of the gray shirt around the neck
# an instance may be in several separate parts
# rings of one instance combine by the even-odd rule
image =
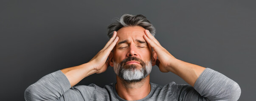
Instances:
[[[118,100],[121,100],[121,101],[128,101],[128,100],[125,100],[125,99],[121,98],[121,97],[117,94],[117,92],[116,92],[116,90],[115,90],[115,84],[116,84],[116,82],[113,83],[113,92],[115,93],[115,97],[118,98]],[[153,94],[152,83],[149,82],[149,84],[150,84],[150,87],[151,87],[149,94],[148,94],[146,97],[144,97],[144,98],[142,98],[142,99],[140,99],[140,100],[135,100],[135,101],[144,101],[144,100],[146,100],[146,99],[148,99],[148,98],[150,98],[150,97],[152,96],[152,94]]]

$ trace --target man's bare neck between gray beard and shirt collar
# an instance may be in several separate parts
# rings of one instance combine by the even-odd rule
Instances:
[[[116,79],[116,92],[118,96],[125,100],[139,100],[145,98],[151,90],[149,75],[139,82],[126,82],[118,76],[116,76]]]

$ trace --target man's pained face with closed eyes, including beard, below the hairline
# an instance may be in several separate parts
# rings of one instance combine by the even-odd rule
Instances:
[[[110,65],[123,80],[137,82],[145,78],[152,69],[152,49],[144,40],[144,28],[123,27],[117,31],[119,40],[110,53]]]

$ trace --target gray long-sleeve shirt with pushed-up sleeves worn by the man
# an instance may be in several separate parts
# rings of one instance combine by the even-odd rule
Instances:
[[[149,95],[138,101],[237,101],[239,85],[225,75],[206,68],[194,84],[170,82],[165,86],[150,83]],[[48,74],[25,90],[26,101],[126,101],[115,90],[115,83],[104,88],[95,84],[70,87],[60,70]]]

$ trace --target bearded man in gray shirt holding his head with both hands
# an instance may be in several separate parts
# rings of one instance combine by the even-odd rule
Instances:
[[[155,39],[155,28],[142,15],[124,14],[109,27],[110,40],[88,63],[42,77],[25,90],[26,101],[237,101],[241,89],[225,75],[181,61]],[[158,58],[157,58],[158,57]],[[107,60],[107,58],[109,58]],[[152,66],[173,72],[189,85],[171,82],[160,86],[149,81]],[[90,74],[113,66],[116,83],[100,88],[75,86]]]

